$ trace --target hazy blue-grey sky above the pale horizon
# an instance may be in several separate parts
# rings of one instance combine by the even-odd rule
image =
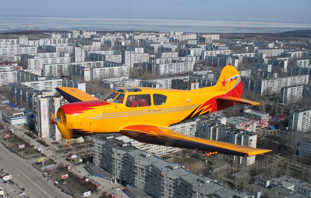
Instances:
[[[0,5],[6,8],[0,16],[311,23],[311,0],[0,0]]]

